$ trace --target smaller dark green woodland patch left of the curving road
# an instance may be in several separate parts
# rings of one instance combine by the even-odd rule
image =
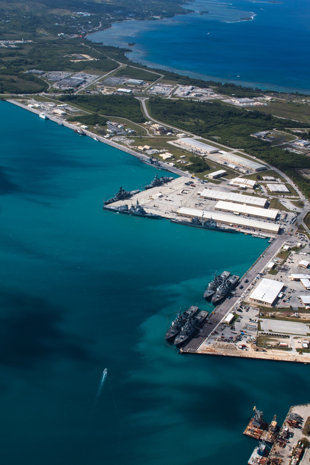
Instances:
[[[61,101],[83,106],[102,115],[127,118],[135,123],[146,121],[139,100],[131,95],[66,95],[61,97]]]

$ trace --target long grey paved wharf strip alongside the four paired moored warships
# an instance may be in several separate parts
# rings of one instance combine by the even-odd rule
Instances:
[[[262,253],[262,255],[256,260],[255,263],[249,268],[249,270],[240,279],[237,288],[236,295],[231,299],[225,299],[219,306],[214,309],[214,313],[209,316],[209,323],[205,323],[199,332],[194,334],[191,340],[182,347],[181,352],[196,352],[198,347],[204,342],[204,340],[211,334],[211,332],[218,326],[219,322],[223,317],[231,310],[235,305],[240,295],[245,291],[246,287],[255,279],[257,273],[261,272],[263,268],[269,263],[270,258],[282,247],[284,242],[289,239],[290,236],[283,234],[275,239],[272,244]],[[263,239],[257,239],[263,240]],[[266,239],[265,239],[266,240]],[[249,284],[244,285],[244,280],[249,279]],[[239,289],[241,283],[244,285],[244,289]]]

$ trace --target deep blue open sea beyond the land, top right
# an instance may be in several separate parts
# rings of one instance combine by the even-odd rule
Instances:
[[[197,0],[195,13],[118,22],[88,36],[130,46],[133,61],[192,77],[310,94],[307,0]],[[200,15],[199,11],[209,11]],[[252,18],[252,20],[244,20]],[[240,77],[237,77],[237,76]]]

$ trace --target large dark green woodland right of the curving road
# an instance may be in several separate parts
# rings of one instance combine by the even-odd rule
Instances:
[[[148,103],[150,113],[162,122],[178,126],[205,138],[215,138],[219,143],[234,148],[243,148],[255,157],[279,167],[286,172],[310,198],[310,181],[298,170],[310,168],[310,157],[292,155],[269,142],[257,140],[250,134],[264,129],[296,127],[296,121],[283,120],[258,111],[224,105],[218,101],[197,102],[170,100],[153,97]],[[298,123],[299,127],[308,127]]]

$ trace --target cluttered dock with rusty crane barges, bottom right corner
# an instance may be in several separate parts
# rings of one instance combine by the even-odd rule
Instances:
[[[248,465],[305,465],[310,461],[310,404],[293,405],[281,427],[274,415],[264,422],[263,412],[253,409],[254,415],[244,430],[246,436],[257,439]]]

